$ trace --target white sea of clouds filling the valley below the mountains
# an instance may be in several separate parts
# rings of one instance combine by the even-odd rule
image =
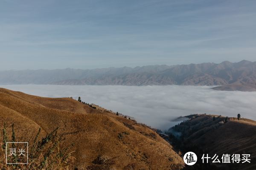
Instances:
[[[94,103],[134,117],[151,127],[166,130],[175,119],[193,113],[256,120],[256,92],[215,91],[208,86],[95,86],[95,85],[0,85],[45,97],[69,97]]]

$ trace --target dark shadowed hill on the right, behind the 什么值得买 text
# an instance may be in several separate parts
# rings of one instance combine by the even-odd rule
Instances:
[[[217,154],[220,160],[222,154],[250,154],[251,163],[216,164],[217,167],[207,169],[255,170],[256,121],[228,118],[224,123],[224,120],[225,117],[218,115],[195,115],[192,119],[173,127],[172,130],[182,133],[179,147],[185,152],[194,151],[199,155],[201,162],[203,153],[211,156]]]

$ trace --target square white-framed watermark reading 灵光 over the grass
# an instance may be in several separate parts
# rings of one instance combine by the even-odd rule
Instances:
[[[6,164],[28,164],[28,142],[6,142]]]

